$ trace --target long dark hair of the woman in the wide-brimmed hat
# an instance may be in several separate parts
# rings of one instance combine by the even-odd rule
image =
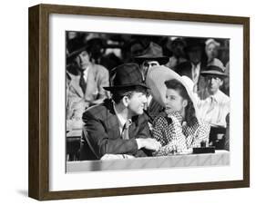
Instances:
[[[185,108],[185,121],[189,126],[193,126],[196,122],[198,122],[198,119],[196,117],[195,107],[189,98],[186,88],[176,79],[166,81],[165,84],[168,89],[179,91],[180,96],[188,101],[188,105]]]

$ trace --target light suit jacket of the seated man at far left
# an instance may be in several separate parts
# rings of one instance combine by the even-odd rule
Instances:
[[[91,63],[87,74],[86,92],[80,86],[80,75],[69,73],[71,81],[68,85],[67,104],[72,107],[74,102],[84,100],[85,102],[94,102],[98,99],[109,97],[109,93],[103,87],[109,86],[108,70],[99,65]],[[67,116],[72,116],[72,109],[67,110]],[[81,115],[85,108],[81,108]],[[69,113],[70,112],[70,113]]]

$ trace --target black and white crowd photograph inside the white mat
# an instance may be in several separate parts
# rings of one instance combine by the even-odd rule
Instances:
[[[67,172],[230,164],[229,38],[65,40]]]

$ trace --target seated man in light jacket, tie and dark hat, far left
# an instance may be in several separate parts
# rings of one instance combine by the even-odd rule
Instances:
[[[79,40],[79,39],[78,39]],[[82,114],[87,107],[103,102],[109,93],[103,89],[109,85],[108,70],[92,63],[87,44],[72,39],[67,54],[67,129],[82,125]],[[72,42],[71,42],[72,43]],[[69,44],[71,44],[69,42]]]

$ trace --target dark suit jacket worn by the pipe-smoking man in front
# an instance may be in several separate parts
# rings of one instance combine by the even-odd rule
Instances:
[[[107,99],[83,114],[85,122],[80,147],[80,160],[98,160],[104,154],[129,154],[136,157],[151,155],[151,151],[138,150],[135,139],[151,137],[148,118],[142,114],[133,117],[129,126],[129,140],[123,140],[113,103]]]

